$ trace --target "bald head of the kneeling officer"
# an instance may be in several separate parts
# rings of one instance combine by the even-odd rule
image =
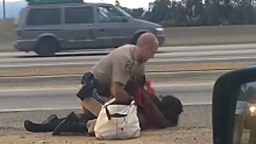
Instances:
[[[138,58],[142,62],[153,58],[157,52],[159,43],[153,33],[143,33],[137,40]]]

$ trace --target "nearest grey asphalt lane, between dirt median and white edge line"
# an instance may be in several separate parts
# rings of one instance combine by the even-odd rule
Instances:
[[[209,104],[213,83],[153,85],[158,95],[174,95],[184,105]],[[79,108],[78,87],[12,88],[0,90],[0,112]]]

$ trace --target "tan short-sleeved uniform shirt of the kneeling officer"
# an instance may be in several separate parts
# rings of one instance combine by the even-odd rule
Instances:
[[[145,75],[144,63],[137,61],[135,50],[135,45],[121,46],[102,58],[90,72],[105,86],[112,81],[126,85],[137,75]]]

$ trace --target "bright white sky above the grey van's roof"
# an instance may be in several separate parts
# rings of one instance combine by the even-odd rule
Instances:
[[[2,2],[3,0],[0,0]],[[5,1],[21,1],[21,0],[5,0]],[[115,0],[84,0],[84,2],[105,2],[114,4]],[[119,0],[120,5],[128,8],[148,8],[149,2],[154,2],[154,0]]]

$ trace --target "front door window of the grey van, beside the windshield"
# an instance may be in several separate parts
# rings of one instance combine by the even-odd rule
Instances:
[[[109,6],[98,6],[98,22],[115,22],[114,18],[125,16],[118,9]]]

